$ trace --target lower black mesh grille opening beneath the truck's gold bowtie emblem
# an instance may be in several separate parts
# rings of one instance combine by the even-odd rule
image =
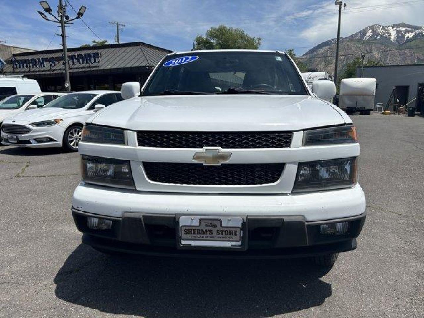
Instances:
[[[186,185],[247,186],[277,182],[283,163],[223,164],[143,162],[147,178],[154,182]]]

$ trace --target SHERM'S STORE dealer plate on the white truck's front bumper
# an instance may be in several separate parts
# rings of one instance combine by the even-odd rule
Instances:
[[[232,247],[242,244],[240,217],[181,216],[179,218],[181,245]]]

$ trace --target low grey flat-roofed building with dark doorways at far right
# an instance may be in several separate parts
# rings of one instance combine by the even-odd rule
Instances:
[[[361,77],[362,67],[356,68],[356,77]],[[400,64],[364,66],[364,78],[376,78],[375,103],[387,107],[389,99],[393,102],[394,91],[399,105],[416,106],[417,112],[424,113],[424,64]],[[393,111],[393,105],[388,110]]]

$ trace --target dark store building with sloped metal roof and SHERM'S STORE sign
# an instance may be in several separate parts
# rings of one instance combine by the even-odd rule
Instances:
[[[171,52],[143,42],[69,48],[71,88],[120,90],[128,81],[144,83],[156,64]],[[0,74],[34,78],[44,92],[64,90],[62,50],[14,53]]]

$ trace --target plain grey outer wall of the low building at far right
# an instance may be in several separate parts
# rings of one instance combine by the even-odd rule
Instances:
[[[356,76],[361,77],[361,67]],[[407,102],[417,97],[418,84],[424,84],[424,64],[405,64],[364,67],[364,78],[376,78],[377,90],[375,103],[385,106],[395,86],[407,86]],[[411,104],[416,105],[416,101]]]

